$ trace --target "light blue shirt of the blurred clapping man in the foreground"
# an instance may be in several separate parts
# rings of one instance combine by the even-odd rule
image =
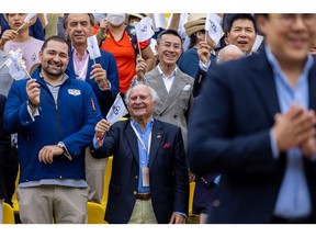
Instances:
[[[268,60],[272,65],[279,104],[282,113],[285,113],[291,104],[298,104],[308,109],[308,72],[313,65],[313,57],[308,55],[304,69],[298,77],[297,83],[292,88],[289,79],[280,68],[279,63],[272,55],[270,48],[266,47]],[[274,158],[279,158],[275,150],[276,143],[271,133],[272,151]],[[278,148],[276,148],[278,149]],[[286,168],[282,180],[281,189],[276,199],[273,214],[284,218],[295,218],[308,216],[312,212],[312,203],[304,173],[303,156],[298,147],[286,153]]]

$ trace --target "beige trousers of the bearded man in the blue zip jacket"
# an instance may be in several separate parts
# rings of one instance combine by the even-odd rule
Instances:
[[[20,219],[23,224],[87,223],[89,188],[41,185],[18,188]]]

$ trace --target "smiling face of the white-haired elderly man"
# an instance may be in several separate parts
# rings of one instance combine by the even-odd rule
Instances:
[[[128,93],[127,108],[131,116],[136,122],[147,122],[151,119],[155,109],[155,101],[150,88],[145,84],[137,84]]]

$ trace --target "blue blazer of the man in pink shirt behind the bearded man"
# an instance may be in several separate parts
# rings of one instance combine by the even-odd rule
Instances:
[[[69,64],[67,66],[66,74],[68,76],[76,75],[74,67],[72,49],[71,46],[69,53]],[[100,64],[104,70],[106,70],[106,77],[111,82],[111,91],[101,91],[98,83],[90,79],[90,72],[92,70],[92,65],[94,64],[92,59],[89,59],[86,81],[90,83],[93,92],[97,97],[102,116],[105,117],[110,108],[112,106],[116,94],[119,93],[119,71],[116,66],[116,60],[114,56],[105,50],[101,50],[101,57],[95,58],[95,64]]]

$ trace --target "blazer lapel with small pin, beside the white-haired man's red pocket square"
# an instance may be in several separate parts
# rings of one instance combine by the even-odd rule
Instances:
[[[153,166],[154,160],[156,159],[156,154],[159,149],[160,143],[163,138],[162,127],[160,126],[159,121],[155,120],[153,131],[151,131],[151,144],[149,153],[149,169]]]

